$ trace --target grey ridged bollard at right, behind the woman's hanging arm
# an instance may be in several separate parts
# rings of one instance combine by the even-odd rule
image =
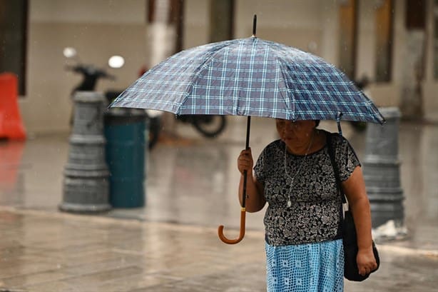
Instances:
[[[378,228],[391,222],[395,230],[404,224],[398,152],[400,112],[396,107],[379,110],[387,123],[384,126],[367,126],[363,171],[370,198],[372,227]]]

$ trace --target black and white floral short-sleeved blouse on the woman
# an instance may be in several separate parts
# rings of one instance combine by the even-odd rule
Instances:
[[[346,181],[360,161],[338,134],[332,134],[332,149],[340,179]],[[271,246],[341,238],[342,198],[327,145],[306,157],[285,153],[285,143],[273,141],[263,149],[254,170],[268,202],[265,239]],[[287,206],[289,196],[292,204]]]

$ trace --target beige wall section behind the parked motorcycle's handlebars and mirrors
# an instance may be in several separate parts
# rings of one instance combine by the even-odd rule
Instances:
[[[126,64],[110,69],[117,81],[100,81],[98,89],[124,89],[146,60],[146,1],[31,0],[27,54],[27,94],[20,99],[26,131],[68,131],[70,93],[80,77],[65,71],[62,51],[77,49],[84,63],[106,66],[121,54]]]

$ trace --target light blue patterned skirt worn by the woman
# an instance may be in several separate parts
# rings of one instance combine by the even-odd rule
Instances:
[[[344,291],[342,239],[265,248],[268,292]]]

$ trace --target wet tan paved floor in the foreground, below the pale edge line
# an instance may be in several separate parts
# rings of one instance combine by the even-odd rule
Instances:
[[[265,291],[260,231],[226,246],[215,228],[3,207],[0,233],[6,291]],[[436,288],[436,253],[388,245],[380,253],[380,271],[346,291]]]

